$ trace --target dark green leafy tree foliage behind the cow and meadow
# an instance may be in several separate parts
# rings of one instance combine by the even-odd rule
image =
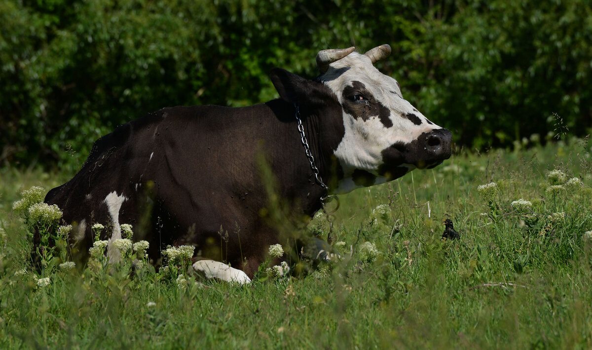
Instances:
[[[552,113],[580,133],[592,121],[585,0],[7,0],[0,160],[80,164],[149,111],[263,102],[274,66],[313,77],[318,50],[383,43],[378,68],[462,145],[544,136]]]

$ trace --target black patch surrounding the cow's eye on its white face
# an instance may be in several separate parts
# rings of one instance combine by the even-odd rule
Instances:
[[[355,101],[355,97],[363,97],[361,101]],[[342,107],[346,113],[354,118],[361,118],[366,121],[371,117],[378,116],[382,125],[392,127],[391,111],[374,99],[374,96],[366,89],[366,86],[359,81],[353,81],[352,86],[346,86],[342,92]]]

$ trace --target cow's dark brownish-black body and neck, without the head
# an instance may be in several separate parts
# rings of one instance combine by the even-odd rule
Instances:
[[[301,107],[301,114],[319,168],[329,169],[341,137],[330,127],[340,118],[339,105]],[[263,178],[263,166],[275,179]],[[276,195],[298,215],[314,214],[326,194],[305,156],[295,107],[281,99],[244,108],[164,108],[123,124],[95,142],[81,171],[50,191],[46,202],[62,208],[66,223],[86,220],[83,240],[73,242],[82,252],[92,246],[92,224],[110,232],[104,199],[115,191],[127,198],[119,222],[133,225],[135,239],[150,242],[153,261],[166,245],[195,245],[200,256],[252,275],[278,242],[265,217],[274,210],[266,181],[278,184]]]

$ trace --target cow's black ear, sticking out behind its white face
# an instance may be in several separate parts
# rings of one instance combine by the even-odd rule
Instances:
[[[285,69],[274,68],[269,73],[279,97],[284,101],[301,105],[327,105],[328,99],[337,97],[327,86],[290,73]]]

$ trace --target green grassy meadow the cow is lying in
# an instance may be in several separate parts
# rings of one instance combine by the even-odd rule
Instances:
[[[12,202],[73,172],[0,169],[0,226],[8,233],[0,348],[591,348],[589,152],[580,140],[460,150],[436,169],[342,195],[334,236],[353,256],[330,271],[247,287],[178,288],[155,274],[130,280],[87,270],[57,272],[38,288],[31,274],[14,275],[28,243]],[[584,185],[546,192],[553,169]],[[477,193],[490,181],[499,190],[491,206]],[[532,202],[538,219],[511,207],[519,198]],[[390,213],[372,214],[380,204]],[[547,218],[560,211],[564,222]],[[445,218],[460,240],[440,241]],[[326,234],[323,218],[311,229]],[[358,263],[366,241],[380,254]]]

